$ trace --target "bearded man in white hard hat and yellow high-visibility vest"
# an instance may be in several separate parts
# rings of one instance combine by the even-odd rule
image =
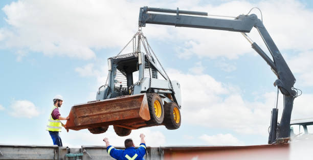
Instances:
[[[61,117],[59,112],[59,108],[63,103],[63,98],[60,95],[56,95],[53,99],[53,107],[50,112],[50,116],[48,119],[48,124],[46,130],[49,131],[49,134],[52,138],[53,144],[62,146],[62,140],[60,138],[59,132],[64,127],[64,124],[60,120],[69,120],[69,116],[64,118]],[[69,130],[67,130],[69,132]]]

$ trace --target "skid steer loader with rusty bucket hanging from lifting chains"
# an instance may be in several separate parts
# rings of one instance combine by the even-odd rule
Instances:
[[[133,40],[136,36],[137,50],[108,58],[107,84],[99,88],[96,101],[72,107],[66,129],[99,134],[113,125],[119,136],[126,136],[142,127],[180,127],[180,84],[169,79],[142,32]],[[141,51],[141,43],[146,52]]]

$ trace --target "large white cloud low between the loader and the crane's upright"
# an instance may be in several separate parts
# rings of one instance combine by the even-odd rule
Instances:
[[[238,87],[218,82],[209,75],[169,71],[171,79],[180,80],[181,113],[184,123],[214,129],[230,129],[244,134],[268,135],[271,110],[276,102],[275,92],[256,95],[255,100],[250,102],[239,94],[241,91]],[[308,103],[310,98],[312,95],[296,98],[293,118],[308,116],[313,112],[313,107]],[[283,96],[280,94],[279,120],[283,110],[282,105]]]

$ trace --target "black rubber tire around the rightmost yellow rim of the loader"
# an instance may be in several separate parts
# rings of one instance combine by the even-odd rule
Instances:
[[[178,109],[179,118],[180,118],[178,123],[175,122],[175,119],[173,116],[174,108]],[[181,111],[178,105],[173,102],[166,103],[164,105],[164,110],[165,110],[165,118],[164,118],[165,127],[170,130],[180,128],[181,122],[182,122],[182,115],[181,115]]]

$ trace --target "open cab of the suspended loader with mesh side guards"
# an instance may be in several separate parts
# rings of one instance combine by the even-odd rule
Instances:
[[[150,67],[151,78],[158,78],[155,67],[152,64]],[[108,58],[108,70],[108,87],[103,99],[131,95],[132,85],[144,77],[149,77],[148,57],[143,52],[111,57]]]

